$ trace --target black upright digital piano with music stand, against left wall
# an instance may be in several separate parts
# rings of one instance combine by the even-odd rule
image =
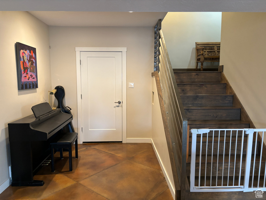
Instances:
[[[44,184],[33,177],[51,155],[49,144],[52,139],[73,119],[72,114],[63,113],[60,108],[52,110],[48,103],[42,104],[36,105],[35,110],[32,107],[34,114],[8,124],[12,186]]]

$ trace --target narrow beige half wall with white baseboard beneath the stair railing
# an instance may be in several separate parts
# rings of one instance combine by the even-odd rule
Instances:
[[[161,162],[161,168],[165,171],[165,179],[167,180],[169,189],[174,197],[174,179],[154,76],[152,77],[152,92],[154,93],[152,104],[152,142],[159,157],[158,159]]]

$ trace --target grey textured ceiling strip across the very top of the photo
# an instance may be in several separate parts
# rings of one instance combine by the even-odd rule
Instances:
[[[3,11],[266,12],[265,0],[0,0]]]

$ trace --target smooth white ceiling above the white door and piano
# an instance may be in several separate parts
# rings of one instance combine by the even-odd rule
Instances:
[[[155,26],[167,12],[29,11],[49,26]]]

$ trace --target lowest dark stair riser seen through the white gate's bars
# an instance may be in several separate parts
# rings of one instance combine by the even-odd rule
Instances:
[[[216,176],[217,173],[217,162],[216,160],[213,161],[212,165],[212,176]],[[239,169],[240,169],[240,163],[235,163],[235,176],[239,175]],[[264,169],[265,169],[265,162],[261,163],[261,170],[260,170],[260,175],[264,175]],[[251,165],[251,172],[253,172],[253,162]],[[245,174],[245,163],[242,162],[241,166],[241,174]],[[254,170],[254,175],[259,174],[259,163],[255,163],[255,170]],[[186,175],[190,176],[190,163],[187,164],[186,167]],[[199,175],[199,163],[196,163],[196,170],[195,170],[195,176]],[[206,176],[211,175],[211,163],[207,163],[207,169],[206,169]],[[218,163],[218,176],[227,176],[228,175],[228,161],[224,163],[224,170],[223,170],[223,163]],[[252,175],[252,174],[251,174]],[[202,161],[201,163],[201,176],[205,176],[205,162]],[[234,176],[234,163],[230,163],[229,167],[229,176]]]

